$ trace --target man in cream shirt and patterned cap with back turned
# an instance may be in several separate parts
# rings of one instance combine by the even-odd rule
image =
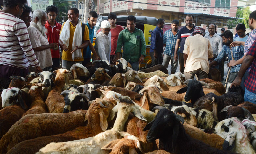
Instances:
[[[193,79],[195,74],[198,80],[208,78],[208,59],[213,58],[213,53],[210,40],[203,37],[204,32],[202,27],[197,26],[192,36],[185,41],[183,54],[186,80]]]

